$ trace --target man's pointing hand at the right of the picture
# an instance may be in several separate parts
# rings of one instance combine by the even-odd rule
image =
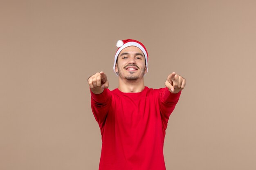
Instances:
[[[168,75],[165,86],[171,93],[179,93],[186,86],[186,79],[173,72]]]

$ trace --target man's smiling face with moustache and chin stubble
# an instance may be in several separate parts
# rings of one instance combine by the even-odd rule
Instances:
[[[128,46],[123,49],[117,57],[115,72],[118,72],[121,79],[143,78],[147,72],[143,52],[136,46]]]

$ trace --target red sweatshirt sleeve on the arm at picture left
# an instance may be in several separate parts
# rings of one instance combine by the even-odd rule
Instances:
[[[101,94],[94,94],[92,93],[91,89],[90,93],[92,113],[98,122],[100,129],[102,129],[105,124],[108,110],[111,106],[112,95],[108,88],[105,88]]]

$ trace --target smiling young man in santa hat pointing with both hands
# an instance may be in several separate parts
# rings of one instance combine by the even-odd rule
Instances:
[[[148,88],[145,46],[128,39],[119,40],[117,47],[113,69],[118,88],[108,89],[103,72],[88,79],[92,112],[102,135],[99,170],[166,170],[165,130],[186,80],[173,72],[165,88]]]

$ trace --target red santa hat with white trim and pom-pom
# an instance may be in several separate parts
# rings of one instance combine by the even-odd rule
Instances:
[[[119,55],[119,53],[126,47],[128,46],[137,46],[145,55],[145,60],[146,60],[146,67],[147,67],[147,71],[148,71],[148,52],[146,50],[146,47],[139,41],[137,40],[131,40],[131,39],[127,39],[127,40],[118,40],[117,41],[117,52],[115,55],[115,62],[114,62],[114,71],[116,68],[116,63],[117,63],[117,57]],[[116,73],[117,74],[117,73]]]

